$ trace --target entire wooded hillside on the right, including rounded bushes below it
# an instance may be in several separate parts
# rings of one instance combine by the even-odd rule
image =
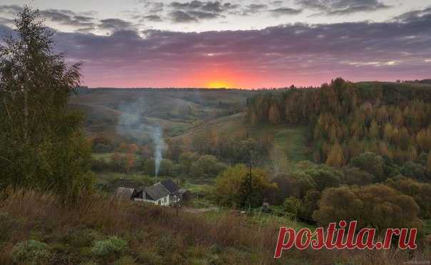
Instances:
[[[338,78],[317,89],[254,96],[246,119],[308,127],[310,161],[275,179],[294,215],[323,224],[421,227],[431,214],[430,103],[427,87]],[[402,216],[395,215],[400,208]]]

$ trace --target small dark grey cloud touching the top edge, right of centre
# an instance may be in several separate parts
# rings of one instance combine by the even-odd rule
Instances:
[[[305,9],[316,9],[328,15],[347,15],[391,7],[380,0],[296,0],[296,3]]]

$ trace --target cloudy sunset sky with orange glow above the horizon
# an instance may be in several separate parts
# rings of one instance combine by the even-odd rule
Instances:
[[[1,36],[24,5],[90,87],[431,78],[431,0],[0,0]]]

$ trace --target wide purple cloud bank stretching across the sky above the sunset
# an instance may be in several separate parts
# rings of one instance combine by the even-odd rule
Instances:
[[[325,74],[329,80],[349,73],[389,73],[402,79],[431,72],[430,13],[412,11],[382,23],[287,24],[201,33],[118,30],[109,36],[58,32],[55,38],[56,49],[84,62],[88,79],[101,73],[163,76],[199,71],[208,64],[240,65],[241,71],[255,74],[265,69],[274,76]]]

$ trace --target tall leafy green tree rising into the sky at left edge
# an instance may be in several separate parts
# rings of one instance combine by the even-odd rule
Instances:
[[[24,7],[0,46],[0,183],[74,196],[93,178],[82,116],[66,111],[80,64],[54,52],[38,16]]]

